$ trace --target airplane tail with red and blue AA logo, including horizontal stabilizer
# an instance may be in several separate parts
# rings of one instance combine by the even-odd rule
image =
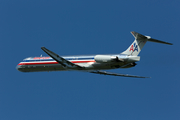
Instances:
[[[144,47],[144,45],[146,44],[147,41],[172,45],[171,43],[156,40],[156,39],[151,38],[150,36],[144,36],[144,35],[141,35],[141,34],[139,34],[137,32],[134,32],[134,31],[131,32],[131,34],[135,37],[135,40],[129,46],[129,48],[126,51],[122,52],[121,54],[137,56],[140,53],[140,51],[142,50],[142,48]]]

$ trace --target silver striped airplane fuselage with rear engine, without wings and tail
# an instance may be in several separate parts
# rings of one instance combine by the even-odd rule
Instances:
[[[127,56],[124,54],[101,55],[101,56],[105,56],[105,58],[102,61],[101,59],[99,60],[97,56],[99,55],[62,56],[62,57],[74,64],[83,66],[84,67],[83,70],[86,71],[129,68],[135,66],[134,62],[139,61],[139,59],[134,59],[131,56]],[[114,59],[112,59],[112,61],[109,62],[107,61],[106,57],[114,58]],[[121,59],[121,61],[117,62],[117,60],[115,59],[116,57],[118,57],[118,59]],[[70,70],[70,69],[65,69],[61,64],[59,64],[51,57],[28,57],[17,65],[17,69],[21,72]]]

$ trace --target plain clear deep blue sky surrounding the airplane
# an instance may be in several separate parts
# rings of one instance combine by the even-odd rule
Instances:
[[[0,120],[179,120],[179,0],[1,0]],[[121,53],[130,31],[148,42],[141,61],[111,72],[22,73],[26,57]]]

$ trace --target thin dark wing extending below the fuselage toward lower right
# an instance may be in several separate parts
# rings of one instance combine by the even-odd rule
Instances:
[[[119,73],[111,73],[106,71],[92,71],[90,73],[95,74],[103,74],[103,75],[113,75],[113,76],[122,76],[122,77],[134,77],[134,78],[150,78],[150,77],[143,77],[143,76],[136,76],[136,75],[128,75],[128,74],[119,74]]]

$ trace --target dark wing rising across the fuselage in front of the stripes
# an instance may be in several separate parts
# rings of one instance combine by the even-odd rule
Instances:
[[[68,68],[68,69],[82,69],[83,67],[76,65],[66,59],[64,59],[63,57],[60,57],[59,55],[57,55],[56,53],[48,50],[45,47],[41,47],[41,49],[47,53],[50,57],[52,57],[55,61],[57,61],[59,64],[61,64],[64,68]]]

